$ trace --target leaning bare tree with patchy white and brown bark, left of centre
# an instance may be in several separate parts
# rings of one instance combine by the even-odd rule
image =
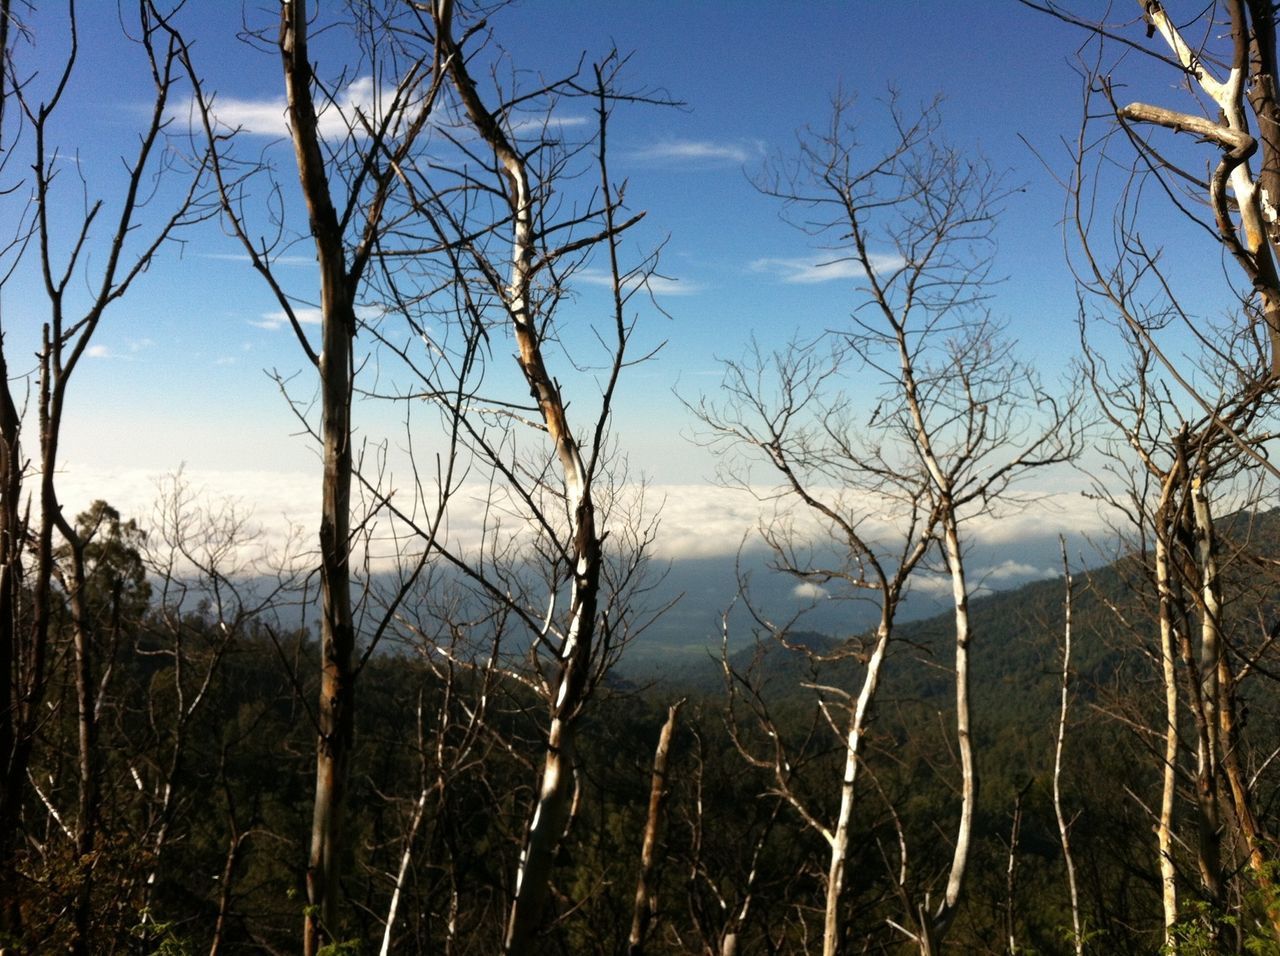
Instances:
[[[649,527],[627,541],[623,532],[627,521],[614,507],[620,499],[605,475],[611,461],[608,431],[614,390],[622,370],[639,358],[628,353],[634,329],[628,301],[637,291],[644,291],[653,267],[652,259],[631,270],[620,265],[620,237],[643,214],[623,214],[622,192],[607,164],[607,127],[618,101],[648,97],[616,92],[614,74],[620,64],[612,58],[595,65],[585,81],[572,76],[531,93],[516,93],[509,101],[500,95],[498,101],[488,100],[471,74],[463,50],[471,31],[458,36],[454,5],[444,0],[435,5],[433,15],[451,95],[460,116],[485,147],[484,156],[479,151],[471,155],[483,164],[489,180],[471,180],[467,174],[461,178],[462,184],[467,192],[485,197],[481,210],[493,206],[494,212],[492,221],[476,221],[476,210],[440,189],[428,188],[426,183],[416,193],[415,207],[439,230],[440,244],[458,251],[454,273],[461,266],[462,274],[474,276],[475,291],[463,289],[461,314],[475,326],[488,328],[490,321],[485,312],[492,310],[498,316],[497,328],[515,339],[517,363],[534,404],[525,408],[524,403],[498,401],[493,407],[504,410],[498,415],[507,422],[532,425],[545,436],[550,452],[550,461],[543,449],[531,450],[532,461],[521,461],[518,439],[512,439],[509,445],[506,439],[494,442],[474,416],[463,421],[472,452],[498,476],[504,495],[526,511],[548,570],[545,610],[524,600],[513,608],[534,637],[530,651],[534,686],[545,700],[550,718],[538,796],[524,840],[503,942],[507,952],[527,952],[545,918],[556,848],[571,823],[576,726],[594,687],[625,641],[628,610],[622,601],[643,570],[652,535]],[[557,150],[540,136],[532,145],[522,143],[511,125],[513,104],[527,109],[530,101],[549,104],[559,96],[585,99],[594,106],[598,123],[590,145],[580,150]],[[557,219],[554,186],[564,175],[566,161],[582,150],[594,160],[598,188],[585,207],[571,209]],[[490,235],[509,239],[511,253],[506,261],[489,251]],[[570,276],[596,248],[608,262],[612,305],[609,328],[603,333],[608,344],[598,411],[594,420],[579,430],[570,420],[561,381],[552,372],[548,348],[562,335],[558,344],[573,355],[570,333],[561,333],[554,324],[556,306]],[[552,462],[558,472],[554,479],[549,471]],[[612,552],[613,559],[604,548],[609,534],[605,522],[611,518],[617,549]],[[509,601],[509,585],[498,587],[498,581],[489,577],[494,568],[476,567],[457,554],[451,559],[490,599]],[[557,613],[558,593],[566,585],[567,604]]]

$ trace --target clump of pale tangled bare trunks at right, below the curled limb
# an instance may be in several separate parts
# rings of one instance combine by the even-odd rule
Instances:
[[[1164,689],[1156,733],[1162,747],[1153,755],[1161,768],[1156,833],[1165,934],[1171,938],[1183,919],[1176,845],[1184,777],[1193,793],[1196,838],[1188,842],[1199,895],[1216,911],[1226,905],[1228,882],[1236,872],[1222,859],[1234,842],[1226,838],[1226,814],[1235,820],[1244,866],[1263,891],[1271,886],[1256,795],[1242,772],[1235,715],[1239,676],[1267,653],[1270,640],[1229,618],[1228,608],[1239,605],[1243,595],[1231,594],[1235,585],[1220,564],[1213,512],[1254,507],[1261,486],[1253,454],[1274,433],[1254,424],[1270,403],[1236,404],[1239,383],[1252,381],[1236,372],[1243,357],[1224,365],[1216,389],[1203,376],[1201,395],[1217,395],[1211,412],[1183,417],[1190,410],[1180,408],[1164,388],[1147,344],[1134,337],[1129,348],[1130,361],[1123,366],[1108,363],[1088,342],[1084,355],[1098,407],[1120,436],[1111,450],[1116,467],[1098,480],[1098,493],[1129,525],[1132,546],[1148,559],[1155,593],[1158,649],[1151,657]],[[1265,352],[1254,348],[1252,358],[1262,367]],[[1236,545],[1233,562],[1243,561],[1243,548]],[[1187,750],[1193,755],[1189,769]]]

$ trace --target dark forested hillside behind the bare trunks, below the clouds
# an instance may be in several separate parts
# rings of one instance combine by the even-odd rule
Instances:
[[[95,514],[104,513],[96,506]],[[1275,523],[1274,516],[1258,522],[1251,546],[1274,541]],[[209,595],[175,591],[173,581],[148,586],[138,577],[141,541],[141,530],[113,518],[91,576],[95,614],[115,626],[104,632],[110,637],[95,672],[97,848],[77,861],[59,833],[68,822],[56,808],[76,799],[77,732],[73,689],[59,686],[23,810],[29,836],[9,905],[20,910],[26,929],[24,939],[12,942],[59,948],[65,914],[87,884],[97,951],[202,952],[216,934],[221,952],[288,952],[305,905],[315,772],[307,704],[315,678],[305,662],[314,641],[306,631],[279,633],[266,618],[220,617]],[[175,594],[186,604],[165,604]],[[957,952],[1069,948],[1051,795],[1062,598],[1057,580],[973,603],[982,796],[973,882],[948,936]],[[1121,614],[1138,619],[1142,604],[1137,557],[1076,576],[1062,802],[1092,952],[1161,947],[1149,811],[1160,768],[1147,738],[1152,724],[1142,723],[1153,719],[1152,636],[1119,623]],[[1243,631],[1266,610],[1239,607],[1233,619]],[[760,689],[758,706],[786,740],[797,790],[833,814],[842,744],[817,703],[858,686],[861,640],[788,637],[791,649],[762,644],[726,663],[740,683]],[[937,892],[946,872],[956,777],[946,729],[954,692],[948,637],[950,621],[938,617],[901,626],[893,645],[870,723],[865,760],[873,777],[859,792],[851,841],[844,904],[844,947],[851,952],[905,944],[890,923],[910,919],[910,896],[893,889],[900,846],[908,847],[908,892]],[[810,653],[833,659],[815,662]],[[442,664],[422,646],[375,654],[366,667],[347,823],[353,840],[343,866],[352,906],[337,930],[349,941],[344,951],[378,950],[408,850],[392,951],[493,952],[532,800],[529,763],[543,706],[517,681],[488,680],[463,662]],[[1260,774],[1263,822],[1275,827],[1280,769],[1266,758],[1280,710],[1262,669],[1239,690],[1249,710],[1240,747]],[[689,700],[668,765],[648,951],[718,951],[732,929],[740,952],[797,952],[820,934],[824,846],[771,795],[769,773],[745,764],[731,744],[731,719],[744,737],[758,736],[744,717],[741,686],[733,717],[723,681],[710,672],[684,686],[613,683],[594,703],[580,735],[575,815],[556,861],[554,912],[540,951],[626,952],[653,747],[666,705],[682,696]],[[483,726],[471,723],[481,708]],[[1194,837],[1183,829],[1190,845]],[[1180,863],[1193,865],[1189,856]],[[1242,880],[1239,892],[1252,891]],[[1256,892],[1252,900],[1233,902],[1230,919],[1215,916],[1210,901],[1196,910],[1204,914],[1204,932],[1217,934],[1215,947],[1234,950],[1265,936]]]

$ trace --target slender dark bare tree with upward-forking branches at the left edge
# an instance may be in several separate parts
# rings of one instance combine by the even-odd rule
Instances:
[[[41,276],[47,301],[47,319],[42,325],[41,344],[35,370],[35,408],[31,412],[38,426],[35,467],[28,467],[22,450],[22,410],[27,402],[14,394],[27,376],[4,369],[4,397],[0,399],[3,430],[4,504],[0,508],[0,536],[4,538],[4,581],[0,605],[0,665],[4,691],[0,697],[0,749],[4,778],[0,787],[0,873],[5,897],[10,905],[22,898],[15,882],[13,852],[19,836],[19,811],[27,792],[27,772],[32,760],[36,731],[44,719],[42,708],[49,687],[49,662],[52,640],[55,591],[60,587],[70,609],[73,660],[77,686],[79,724],[79,797],[76,814],[76,846],[81,860],[93,852],[97,829],[99,782],[96,761],[95,701],[95,635],[84,603],[86,561],[88,540],[63,514],[58,494],[56,471],[59,444],[70,384],[81,361],[99,331],[105,315],[134,285],[166,242],[182,228],[209,215],[201,200],[206,161],[197,151],[189,160],[191,169],[169,147],[168,128],[175,88],[183,78],[177,46],[161,28],[160,15],[152,4],[141,0],[136,8],[133,37],[140,58],[152,81],[154,95],[142,123],[134,154],[124,161],[123,180],[113,198],[93,198],[87,182],[82,192],[65,197],[61,180],[67,174],[65,150],[60,154],[55,119],[63,105],[72,76],[78,67],[79,36],[74,5],[68,8],[67,32],[61,37],[65,50],[56,58],[58,67],[49,82],[19,82],[14,70],[18,55],[12,49],[22,35],[18,10],[5,4],[0,44],[5,47],[3,99],[9,106],[5,119],[15,118],[26,133],[23,150],[29,157],[28,170],[12,182],[8,200],[26,202],[19,211],[14,234],[5,244],[3,270],[8,283],[19,267],[32,267]],[[42,54],[44,55],[44,54]],[[12,102],[10,102],[12,101]],[[15,131],[6,131],[10,150],[5,154],[6,174],[17,152]],[[161,174],[182,178],[175,195],[154,191],[154,178]],[[164,198],[161,198],[164,196]],[[56,219],[65,207],[83,203],[78,227],[69,237]],[[166,203],[161,207],[161,203]],[[92,264],[92,252],[104,250],[100,264]],[[87,289],[87,294],[81,292]],[[0,326],[0,348],[4,329]],[[14,374],[17,372],[17,374]],[[27,479],[35,476],[38,494],[31,495]],[[31,520],[29,500],[38,500]],[[23,502],[28,504],[24,506]],[[27,553],[29,549],[29,554]],[[59,559],[59,552],[63,559]],[[74,906],[73,948],[88,951],[91,943],[91,874],[86,868],[79,898]],[[15,914],[8,911],[12,921]]]

